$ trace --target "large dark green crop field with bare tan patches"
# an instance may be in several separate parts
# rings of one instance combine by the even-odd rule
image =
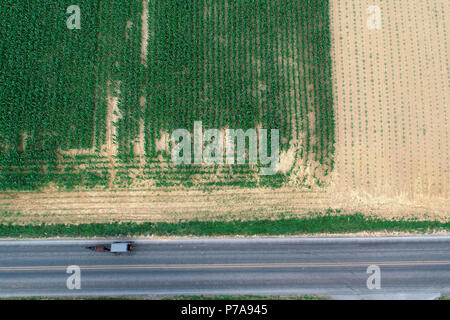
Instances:
[[[321,167],[315,183],[326,181],[334,148],[328,0],[150,0],[144,58],[142,1],[79,0],[81,30],[66,27],[72,4],[2,1],[1,189],[136,179],[278,186],[296,174],[259,180],[248,165],[166,166],[157,141],[194,121],[205,129],[279,129],[282,150],[295,147],[296,160]],[[61,152],[70,149],[90,151]]]

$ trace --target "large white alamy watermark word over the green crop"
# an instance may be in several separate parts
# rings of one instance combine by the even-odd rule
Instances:
[[[207,129],[201,121],[194,122],[194,133],[177,129],[171,135],[175,144],[172,162],[181,164],[261,164],[260,175],[274,175],[280,162],[280,133],[278,129]],[[248,140],[248,144],[246,141]]]

